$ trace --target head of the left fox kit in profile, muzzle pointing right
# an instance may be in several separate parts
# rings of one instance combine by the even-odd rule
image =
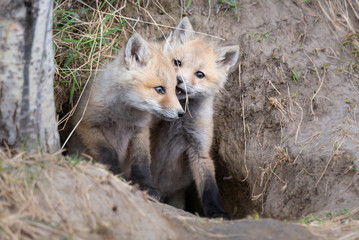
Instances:
[[[127,104],[165,120],[178,119],[184,111],[176,97],[176,73],[157,45],[133,35],[125,48]]]

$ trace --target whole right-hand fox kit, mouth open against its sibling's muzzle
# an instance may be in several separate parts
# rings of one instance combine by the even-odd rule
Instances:
[[[230,219],[220,202],[210,157],[213,100],[228,70],[238,60],[239,47],[214,49],[196,38],[184,18],[165,52],[177,73],[177,96],[185,115],[176,121],[154,121],[151,127],[151,173],[165,203],[185,206],[185,192],[195,182],[204,214]]]

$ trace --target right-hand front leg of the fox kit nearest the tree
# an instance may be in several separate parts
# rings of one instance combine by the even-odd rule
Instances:
[[[142,190],[160,200],[160,192],[153,185],[150,173],[149,128],[140,129],[130,142],[129,160],[131,162],[131,180],[140,185]]]

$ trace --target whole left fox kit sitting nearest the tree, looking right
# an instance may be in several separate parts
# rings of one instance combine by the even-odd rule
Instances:
[[[151,116],[174,120],[184,113],[175,70],[160,48],[138,34],[128,40],[85,90],[70,123],[74,127],[82,121],[68,144],[70,153],[91,155],[156,198],[149,169]]]

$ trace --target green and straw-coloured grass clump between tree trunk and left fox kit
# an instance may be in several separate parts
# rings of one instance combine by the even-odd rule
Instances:
[[[116,14],[120,2],[54,1],[56,108],[74,104],[93,70],[108,61],[124,38],[125,20]]]

